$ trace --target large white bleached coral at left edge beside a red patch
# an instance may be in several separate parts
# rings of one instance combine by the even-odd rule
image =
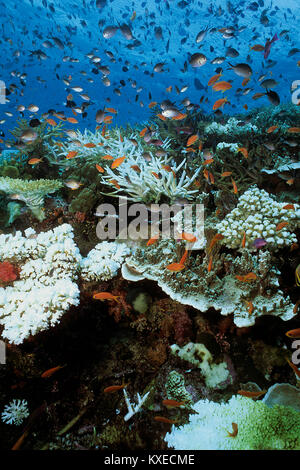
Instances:
[[[31,229],[25,235],[0,236],[0,260],[18,262],[20,268],[19,279],[0,288],[2,336],[15,344],[58,323],[79,304],[80,295],[74,280],[81,255],[72,227],[64,224],[38,235]]]

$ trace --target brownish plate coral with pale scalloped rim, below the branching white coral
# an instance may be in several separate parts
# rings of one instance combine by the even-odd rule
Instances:
[[[154,280],[173,300],[201,312],[213,307],[222,315],[233,313],[238,327],[254,325],[261,315],[275,315],[283,320],[295,315],[291,301],[278,288],[279,272],[271,256],[266,258],[248,250],[237,256],[221,253],[215,256],[209,272],[209,257],[198,252],[189,258],[184,270],[174,273],[166,266],[178,258],[177,247],[173,240],[162,240],[149,248],[137,248],[122,266],[123,277],[131,281]],[[256,280],[241,282],[236,278],[249,272],[256,273]]]

